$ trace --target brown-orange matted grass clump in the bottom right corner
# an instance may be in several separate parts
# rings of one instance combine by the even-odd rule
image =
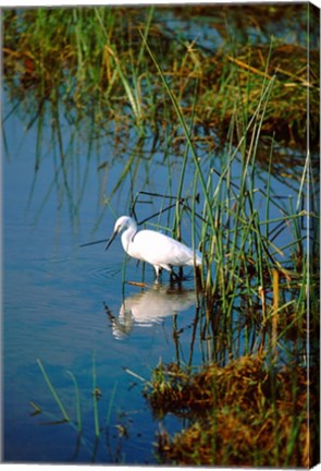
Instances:
[[[318,428],[308,423],[308,400],[310,410],[317,406],[312,388],[305,369],[271,367],[264,355],[240,357],[193,374],[160,364],[144,392],[153,414],[188,418],[174,437],[164,431],[158,435],[160,462],[307,467]]]

